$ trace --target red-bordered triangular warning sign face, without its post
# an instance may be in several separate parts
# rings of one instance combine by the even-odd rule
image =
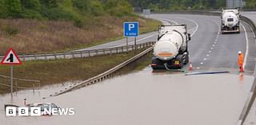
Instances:
[[[3,57],[1,64],[22,64],[22,61],[19,60],[17,54],[14,52],[14,49],[9,49],[6,56]]]

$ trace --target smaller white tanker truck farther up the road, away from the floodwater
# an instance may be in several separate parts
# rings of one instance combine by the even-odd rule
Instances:
[[[238,9],[222,9],[222,33],[240,33]]]

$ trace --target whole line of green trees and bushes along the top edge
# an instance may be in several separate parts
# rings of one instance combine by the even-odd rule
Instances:
[[[71,20],[82,25],[85,18],[132,14],[134,7],[151,10],[209,10],[226,6],[226,0],[0,0],[0,18]],[[256,8],[256,0],[246,0]]]

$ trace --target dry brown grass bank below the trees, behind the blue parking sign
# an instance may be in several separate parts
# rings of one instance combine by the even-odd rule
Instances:
[[[160,21],[137,15],[116,18],[98,16],[82,28],[70,21],[0,19],[0,55],[10,47],[17,53],[63,52],[121,39],[123,22],[138,21],[140,33],[153,32]]]

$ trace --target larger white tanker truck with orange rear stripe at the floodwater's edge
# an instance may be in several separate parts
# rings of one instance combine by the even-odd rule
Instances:
[[[190,34],[187,33],[186,25],[160,25],[151,67],[182,68],[189,62],[188,41]]]

